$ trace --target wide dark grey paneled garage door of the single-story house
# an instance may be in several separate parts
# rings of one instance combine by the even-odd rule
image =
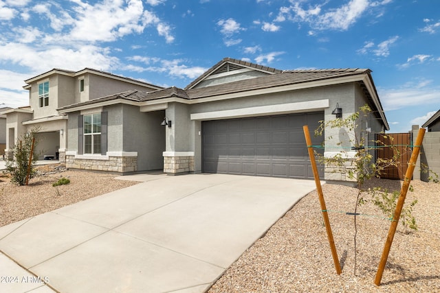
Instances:
[[[319,112],[203,121],[202,171],[313,178],[303,126],[313,131],[323,119]],[[322,137],[311,138],[322,143]]]

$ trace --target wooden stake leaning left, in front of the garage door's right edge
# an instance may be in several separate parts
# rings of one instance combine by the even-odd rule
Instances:
[[[319,202],[321,204],[322,218],[324,218],[325,229],[327,230],[327,238],[329,239],[331,255],[333,256],[333,262],[335,263],[336,272],[341,274],[341,266],[338,259],[338,252],[336,251],[335,242],[333,241],[333,233],[331,233],[329,214],[327,213],[327,207],[325,206],[324,194],[322,194],[321,182],[318,174],[318,167],[316,167],[314,150],[311,147],[311,139],[309,133],[309,126],[303,126],[305,142],[307,143],[307,149],[309,150],[309,157],[311,163],[311,169],[314,172],[314,178],[316,183],[316,190],[318,191]]]

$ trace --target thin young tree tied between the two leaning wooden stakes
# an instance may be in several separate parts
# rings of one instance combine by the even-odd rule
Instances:
[[[327,169],[331,169],[331,172],[344,174],[345,178],[349,181],[353,181],[358,188],[358,195],[356,197],[354,213],[354,250],[355,250],[355,268],[354,274],[356,274],[356,237],[358,234],[357,215],[358,207],[360,204],[371,202],[375,204],[386,217],[392,220],[395,211],[397,198],[399,197],[399,191],[390,193],[388,190],[384,190],[381,187],[375,187],[373,189],[364,190],[363,186],[366,180],[373,178],[374,176],[380,177],[385,169],[392,166],[399,165],[400,153],[396,149],[395,155],[391,159],[377,159],[374,160],[372,154],[373,148],[380,141],[372,141],[373,146],[368,146],[369,141],[366,132],[360,129],[360,125],[363,121],[367,120],[367,117],[371,114],[372,110],[368,105],[360,107],[360,110],[353,113],[347,118],[336,118],[330,121],[320,121],[320,126],[315,130],[315,135],[322,135],[325,130],[334,133],[334,130],[339,131],[338,139],[333,139],[333,135],[329,135],[325,138],[330,143],[335,143],[336,148],[340,151],[333,156],[324,156],[315,152],[318,157],[318,161],[325,165]],[[394,148],[393,145],[380,145],[381,147]],[[369,199],[362,197],[362,194],[370,196]],[[411,202],[401,213],[401,223],[404,226],[417,230],[417,224],[415,218],[412,216],[412,208],[417,203],[417,200]]]

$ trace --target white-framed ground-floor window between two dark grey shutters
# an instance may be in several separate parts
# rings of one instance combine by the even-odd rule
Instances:
[[[84,154],[101,153],[101,113],[84,115]]]

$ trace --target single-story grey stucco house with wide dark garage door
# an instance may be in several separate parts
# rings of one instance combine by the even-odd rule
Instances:
[[[78,92],[81,73],[57,75],[68,74],[76,80],[72,93]],[[35,93],[35,115],[41,109],[36,89],[43,78],[26,82]],[[63,99],[50,113],[24,124],[34,125],[35,119],[63,121],[54,132],[67,130],[65,137],[60,135],[60,152],[65,150],[71,168],[287,178],[313,178],[303,126],[309,126],[313,137],[318,121],[335,119],[337,105],[342,117],[364,104],[373,109],[373,117],[362,118],[359,136],[373,140],[374,133],[389,130],[369,69],[281,71],[224,58],[185,89],[157,88],[133,86],[124,93],[100,88],[87,98],[76,93],[74,103]],[[44,91],[40,103],[45,104]],[[325,145],[326,156],[350,150],[343,132],[326,130],[326,137],[333,136]],[[337,145],[340,140],[343,144]],[[314,145],[321,142],[314,138]],[[326,170],[325,179],[347,180],[331,170]]]

